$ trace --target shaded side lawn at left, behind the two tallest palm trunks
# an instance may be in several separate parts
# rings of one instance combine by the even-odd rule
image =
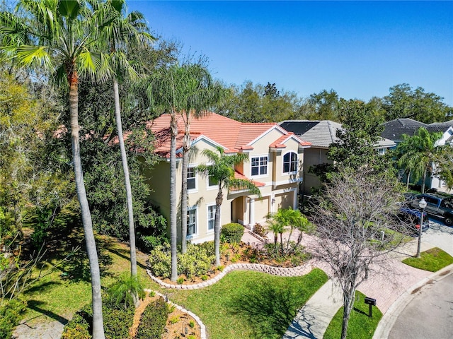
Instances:
[[[73,239],[71,239],[73,237]],[[50,251],[43,266],[55,264],[63,258],[68,249],[79,242],[83,246],[84,236],[80,232],[71,234],[69,240],[59,241],[59,251]],[[126,244],[117,242],[111,237],[96,237],[99,261],[101,266],[102,287],[108,287],[122,272],[130,271],[130,250]],[[66,243],[68,242],[68,244]],[[70,243],[70,244],[69,244]],[[138,273],[145,288],[157,289],[146,273],[146,259],[144,254],[137,254]],[[28,324],[59,320],[62,322],[71,319],[75,311],[91,302],[91,283],[88,258],[84,249],[79,249],[64,261],[62,266],[50,275],[34,283],[23,297],[28,301],[28,308],[23,315],[23,321]]]

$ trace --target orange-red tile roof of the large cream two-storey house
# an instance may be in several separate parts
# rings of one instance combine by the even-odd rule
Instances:
[[[184,132],[184,120],[183,117],[178,115],[178,137],[176,138],[176,149],[179,149],[183,145],[183,132]],[[170,151],[170,114],[163,114],[161,117],[149,121],[147,128],[156,136],[155,151],[163,157],[169,156]],[[284,142],[287,138],[293,137],[304,146],[309,146],[310,143],[306,143],[292,133],[288,133],[284,129],[280,128],[275,123],[243,123],[233,119],[229,119],[216,113],[205,114],[202,117],[193,117],[190,121],[190,135],[193,138],[207,138],[212,143],[220,145],[225,149],[225,153],[235,153],[239,150],[250,150],[253,146],[250,144],[256,140],[263,133],[270,131],[270,129],[277,128],[284,133],[285,138],[279,138],[274,141],[275,143]],[[280,140],[282,139],[282,140]],[[271,146],[270,147],[275,147]],[[179,155],[181,156],[181,155]]]

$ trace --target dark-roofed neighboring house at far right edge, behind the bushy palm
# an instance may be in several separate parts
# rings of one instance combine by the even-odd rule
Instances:
[[[453,145],[453,120],[447,122],[435,122],[433,124],[423,124],[423,122],[413,119],[394,119],[384,123],[384,131],[381,133],[383,138],[389,138],[396,145],[403,141],[403,134],[414,136],[420,127],[425,127],[428,132],[440,132],[442,137],[436,141],[436,145]],[[425,184],[430,189],[447,191],[445,183],[439,177],[432,175],[427,179]]]

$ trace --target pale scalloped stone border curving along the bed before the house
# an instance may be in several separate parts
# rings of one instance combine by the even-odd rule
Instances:
[[[198,290],[200,288],[207,287],[217,283],[217,281],[224,278],[226,273],[229,273],[233,270],[256,270],[262,273],[280,275],[281,277],[298,277],[300,275],[305,275],[306,273],[309,273],[312,269],[313,265],[311,265],[311,263],[307,263],[306,265],[303,266],[290,268],[263,265],[262,263],[233,263],[229,266],[226,266],[226,268],[224,268],[224,270],[222,270],[222,272],[216,275],[214,278],[193,285],[168,284],[152,275],[151,270],[147,269],[147,273],[149,277],[151,277],[151,280],[161,285],[161,287],[173,288],[178,290]]]

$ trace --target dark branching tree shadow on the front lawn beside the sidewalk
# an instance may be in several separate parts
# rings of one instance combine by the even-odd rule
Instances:
[[[246,293],[231,300],[228,307],[248,321],[253,338],[282,338],[299,304],[289,289],[249,283]]]

